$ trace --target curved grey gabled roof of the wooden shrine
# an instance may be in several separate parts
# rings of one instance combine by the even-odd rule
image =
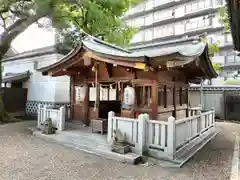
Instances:
[[[92,54],[113,61],[129,62],[129,63],[146,63],[161,59],[161,57],[171,56],[177,61],[179,66],[189,64],[194,60],[200,60],[201,69],[203,70],[202,76],[208,78],[217,77],[216,72],[213,69],[211,61],[208,55],[207,44],[200,41],[191,42],[178,42],[171,44],[163,44],[155,47],[141,48],[140,50],[129,51],[120,47],[108,44],[102,40],[99,40],[92,36],[86,36],[81,41],[80,45],[60,59],[58,62],[38,69],[43,74],[48,74],[49,71],[59,68],[59,65],[73,60],[79,53],[91,52]],[[164,58],[162,58],[164,59]],[[165,58],[166,59],[166,58]],[[169,59],[168,59],[169,60]],[[161,62],[161,61],[158,61]],[[177,65],[176,65],[177,66]],[[175,67],[175,66],[174,66]]]

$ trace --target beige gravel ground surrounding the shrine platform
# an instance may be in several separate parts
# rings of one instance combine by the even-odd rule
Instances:
[[[183,168],[118,163],[33,137],[29,122],[0,126],[0,180],[227,180],[240,125],[218,123],[221,133]]]

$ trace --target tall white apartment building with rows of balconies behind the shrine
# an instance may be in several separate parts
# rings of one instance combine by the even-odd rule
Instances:
[[[219,22],[219,8],[225,4],[225,0],[145,0],[123,17],[128,25],[138,28],[131,48],[136,50],[207,33],[209,43],[220,43],[220,51],[212,62],[223,66],[212,83],[223,84],[240,69],[240,57],[233,50],[232,36],[224,32]]]

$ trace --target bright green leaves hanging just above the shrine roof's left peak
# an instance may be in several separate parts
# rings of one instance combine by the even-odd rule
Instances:
[[[62,19],[58,27],[57,41],[65,48],[76,46],[82,37],[81,32],[102,38],[119,46],[127,46],[136,32],[135,28],[122,22],[122,15],[130,6],[142,0],[88,0],[81,1],[79,6],[63,6],[66,13],[67,28],[62,28]],[[70,14],[68,14],[70,12]],[[69,18],[71,17],[71,18]],[[53,20],[58,22],[59,17]],[[57,21],[56,21],[57,20]]]

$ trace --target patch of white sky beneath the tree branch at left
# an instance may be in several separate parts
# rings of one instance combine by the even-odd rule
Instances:
[[[0,29],[0,33],[1,33]],[[13,41],[12,47],[18,52],[24,52],[55,44],[54,30],[39,28],[37,24],[33,24],[22,32]]]

